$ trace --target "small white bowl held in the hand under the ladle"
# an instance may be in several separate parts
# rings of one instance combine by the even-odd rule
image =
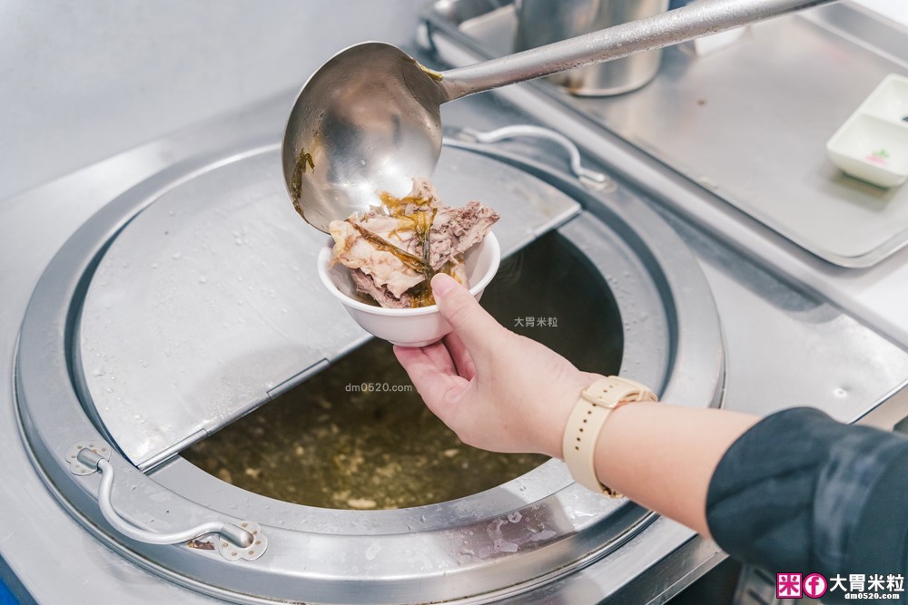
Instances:
[[[437,342],[451,331],[441,317],[439,307],[385,308],[368,305],[356,298],[356,288],[350,278],[350,269],[340,263],[331,267],[333,241],[319,253],[321,283],[337,297],[347,314],[364,330],[383,340],[400,346],[426,346]],[[498,271],[501,248],[498,239],[489,233],[478,245],[464,255],[469,291],[477,300]]]

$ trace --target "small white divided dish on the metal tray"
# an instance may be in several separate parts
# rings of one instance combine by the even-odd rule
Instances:
[[[908,180],[908,78],[891,73],[826,143],[846,174],[880,187]]]

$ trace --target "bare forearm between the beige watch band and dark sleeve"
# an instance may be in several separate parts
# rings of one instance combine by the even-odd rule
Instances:
[[[731,444],[757,420],[712,409],[623,405],[599,434],[597,476],[631,500],[708,536],[710,479]]]

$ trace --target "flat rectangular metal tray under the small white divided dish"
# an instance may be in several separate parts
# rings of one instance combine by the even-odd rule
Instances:
[[[425,22],[423,42],[455,65],[509,53],[517,25],[513,5],[497,0],[439,0]],[[457,53],[445,52],[451,43]],[[860,268],[908,243],[908,187],[845,176],[825,142],[886,74],[908,73],[906,49],[898,24],[831,5],[755,25],[713,54],[666,49],[656,79],[634,93],[529,85],[817,257]]]

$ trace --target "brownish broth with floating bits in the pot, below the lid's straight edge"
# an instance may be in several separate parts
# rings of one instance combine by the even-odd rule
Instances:
[[[478,493],[548,458],[460,442],[372,340],[183,452],[216,477],[289,503],[396,509]]]

